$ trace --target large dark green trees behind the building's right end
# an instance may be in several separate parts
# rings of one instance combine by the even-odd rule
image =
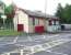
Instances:
[[[66,4],[66,7],[62,7],[59,3],[56,15],[60,18],[61,23],[71,23],[71,6]]]

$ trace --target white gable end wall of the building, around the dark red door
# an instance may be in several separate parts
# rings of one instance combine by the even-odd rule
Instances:
[[[23,11],[16,11],[14,16],[14,30],[17,29],[17,24],[23,24],[24,32],[28,33],[28,15]]]

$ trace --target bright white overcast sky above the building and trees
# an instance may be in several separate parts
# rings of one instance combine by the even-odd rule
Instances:
[[[2,1],[5,2],[7,6],[11,4],[13,1],[19,8],[42,12],[45,12],[45,3],[47,3],[46,12],[52,15],[57,11],[58,3],[61,3],[62,7],[64,7],[66,3],[71,4],[71,0],[2,0]]]

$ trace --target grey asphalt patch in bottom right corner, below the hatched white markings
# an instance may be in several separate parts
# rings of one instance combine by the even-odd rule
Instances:
[[[52,47],[50,51],[71,55],[71,42]]]

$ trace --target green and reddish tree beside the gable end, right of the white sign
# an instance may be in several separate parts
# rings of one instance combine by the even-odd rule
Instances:
[[[4,14],[7,15],[7,20],[5,20],[7,25],[8,26],[12,25],[13,24],[13,16],[15,14],[14,6],[10,4],[9,7],[5,7]]]

